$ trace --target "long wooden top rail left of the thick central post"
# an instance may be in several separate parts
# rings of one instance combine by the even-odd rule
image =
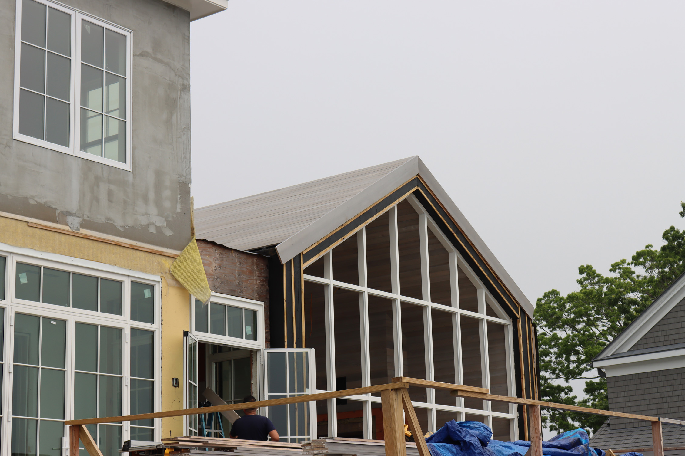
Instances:
[[[391,383],[384,385],[364,386],[362,388],[351,388],[349,390],[318,392],[316,394],[302,394],[296,397],[283,397],[281,399],[270,399],[269,401],[256,401],[253,407],[270,407],[273,405],[295,404],[310,401],[323,401],[324,399],[335,399],[338,397],[354,396],[356,394],[366,394],[370,392],[382,392],[390,389],[409,388],[406,383]],[[167,410],[166,412],[155,412],[138,415],[110,416],[107,418],[86,418],[84,420],[66,420],[65,425],[92,425],[96,423],[121,423],[122,421],[150,420],[152,418],[168,418],[169,416],[199,415],[212,412],[223,412],[225,410],[242,410],[245,404],[214,405],[213,407],[198,407],[195,409]]]

